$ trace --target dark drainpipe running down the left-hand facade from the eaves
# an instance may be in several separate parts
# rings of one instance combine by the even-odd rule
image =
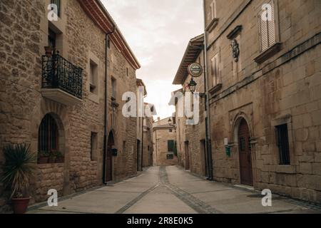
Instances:
[[[106,182],[106,154],[107,154],[107,110],[108,110],[108,36],[115,31],[116,26],[113,25],[113,30],[106,33],[105,43],[105,110],[104,110],[104,126],[103,126],[103,184],[107,185]]]

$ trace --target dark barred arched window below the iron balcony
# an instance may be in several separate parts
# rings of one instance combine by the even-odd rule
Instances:
[[[56,120],[47,114],[41,120],[39,127],[39,152],[54,152],[58,150],[58,126]]]

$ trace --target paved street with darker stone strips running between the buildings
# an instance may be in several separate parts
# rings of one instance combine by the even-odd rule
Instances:
[[[277,195],[272,196],[272,207],[263,207],[262,197],[176,166],[150,167],[137,177],[58,201],[58,207],[33,207],[29,213],[321,213],[320,207]]]

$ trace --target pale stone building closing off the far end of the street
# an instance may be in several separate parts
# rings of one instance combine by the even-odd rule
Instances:
[[[153,165],[177,165],[176,132],[173,118],[158,118],[153,123]]]

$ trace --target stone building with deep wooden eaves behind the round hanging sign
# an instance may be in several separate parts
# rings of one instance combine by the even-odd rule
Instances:
[[[185,170],[190,170],[198,175],[205,176],[207,173],[207,160],[205,150],[205,98],[200,97],[199,105],[199,123],[188,125],[186,121],[188,118],[185,113],[179,116],[180,108],[185,110],[185,98],[191,95],[188,90],[191,76],[188,73],[188,66],[191,63],[200,63],[203,66],[204,52],[203,52],[204,35],[192,38],[188,42],[183,59],[175,75],[173,84],[182,85],[183,88],[173,92],[170,105],[175,105],[175,122],[176,122],[176,139],[178,150],[178,163],[185,167]],[[193,78],[197,83],[195,92],[205,93],[204,74],[198,78]],[[181,107],[180,107],[181,105]]]

